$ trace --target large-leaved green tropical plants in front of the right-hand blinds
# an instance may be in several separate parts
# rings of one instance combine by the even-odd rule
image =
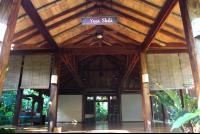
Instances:
[[[197,99],[189,97],[184,94],[184,104],[181,105],[180,97],[173,91],[163,88],[162,85],[155,83],[164,92],[156,92],[156,94],[148,94],[149,96],[156,97],[157,100],[171,108],[170,118],[173,121],[171,131],[174,128],[180,128],[182,132],[196,132],[199,129],[199,114],[200,109],[197,109]]]

